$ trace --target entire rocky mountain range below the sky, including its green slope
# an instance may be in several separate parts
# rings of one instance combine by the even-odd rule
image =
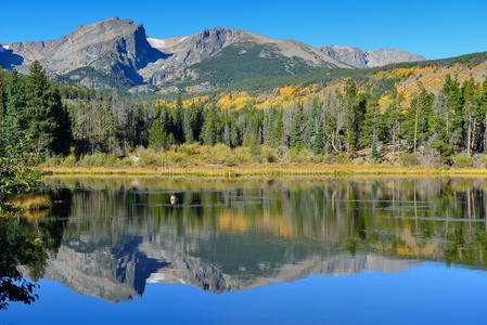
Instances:
[[[424,57],[393,49],[311,47],[221,27],[158,39],[148,37],[142,24],[112,17],[79,26],[55,40],[0,44],[3,68],[26,73],[35,60],[59,81],[89,88],[191,84],[205,90],[253,78]]]

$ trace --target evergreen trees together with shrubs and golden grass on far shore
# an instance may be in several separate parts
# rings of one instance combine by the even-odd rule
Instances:
[[[25,141],[34,165],[56,173],[484,173],[487,78],[447,74],[436,91],[416,80],[406,96],[396,77],[386,89],[374,78],[290,86],[269,94],[279,103],[235,106],[236,93],[154,101],[66,88],[34,62],[25,77],[0,73],[0,140]]]

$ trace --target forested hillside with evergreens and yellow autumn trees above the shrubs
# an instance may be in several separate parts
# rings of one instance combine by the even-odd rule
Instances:
[[[53,83],[35,63],[25,77],[1,75],[2,134],[8,143],[27,135],[42,159],[71,154],[69,164],[90,154],[138,156],[141,147],[155,155],[153,164],[177,164],[157,161],[157,153],[200,143],[249,155],[266,148],[257,162],[305,153],[319,162],[471,166],[484,164],[487,150],[485,56],[145,98]]]

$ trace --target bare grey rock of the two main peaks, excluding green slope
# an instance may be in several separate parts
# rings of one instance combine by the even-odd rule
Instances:
[[[241,29],[216,27],[191,36],[149,38],[142,25],[118,17],[79,26],[69,35],[55,40],[2,44],[0,64],[27,73],[28,66],[39,61],[61,81],[90,88],[195,79],[188,69],[204,62],[223,48],[251,42],[266,46],[290,58],[303,60],[309,67],[349,67],[328,54],[302,42],[279,40]],[[270,46],[270,47],[269,47]],[[269,53],[264,53],[262,57]],[[235,63],[238,62],[235,57]],[[113,84],[112,84],[113,83]]]

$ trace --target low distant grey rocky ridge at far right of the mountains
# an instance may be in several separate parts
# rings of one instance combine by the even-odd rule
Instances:
[[[322,46],[317,49],[326,55],[330,55],[331,57],[356,68],[369,68],[399,62],[415,62],[425,60],[421,55],[415,55],[395,49],[363,51],[358,48],[339,46]]]

